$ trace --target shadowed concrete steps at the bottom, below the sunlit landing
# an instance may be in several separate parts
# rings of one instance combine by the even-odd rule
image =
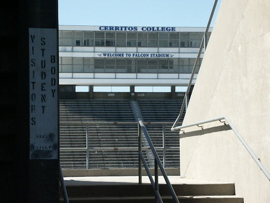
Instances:
[[[123,181],[125,182],[125,181]],[[91,182],[87,184],[67,184],[67,194],[70,203],[151,203],[156,202],[150,184],[120,182]],[[192,183],[172,184],[180,203],[243,203],[242,197],[235,195],[235,185],[232,183],[202,183],[192,180]],[[159,185],[164,203],[173,202],[165,184]],[[64,202],[61,198],[60,202]]]

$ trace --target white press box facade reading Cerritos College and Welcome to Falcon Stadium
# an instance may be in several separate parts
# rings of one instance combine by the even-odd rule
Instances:
[[[60,25],[60,85],[187,86],[204,31]]]

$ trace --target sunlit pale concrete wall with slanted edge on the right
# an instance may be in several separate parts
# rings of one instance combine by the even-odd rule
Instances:
[[[223,0],[183,122],[227,116],[268,171],[269,11],[268,0]],[[191,130],[200,128],[185,129]],[[245,203],[270,202],[269,181],[232,130],[185,135],[180,140],[181,176],[234,182]]]

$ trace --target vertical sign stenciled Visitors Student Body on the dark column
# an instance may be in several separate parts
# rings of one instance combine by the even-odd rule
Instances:
[[[57,30],[29,28],[30,159],[58,159]]]

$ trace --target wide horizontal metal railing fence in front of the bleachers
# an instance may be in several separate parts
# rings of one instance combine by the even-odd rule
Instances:
[[[152,132],[151,139],[163,166],[179,168],[179,134],[170,131],[172,122],[145,124]],[[137,168],[137,125],[137,122],[60,122],[62,168]],[[143,146],[142,150],[147,157],[149,146]],[[147,161],[153,162],[150,159],[148,156]]]

